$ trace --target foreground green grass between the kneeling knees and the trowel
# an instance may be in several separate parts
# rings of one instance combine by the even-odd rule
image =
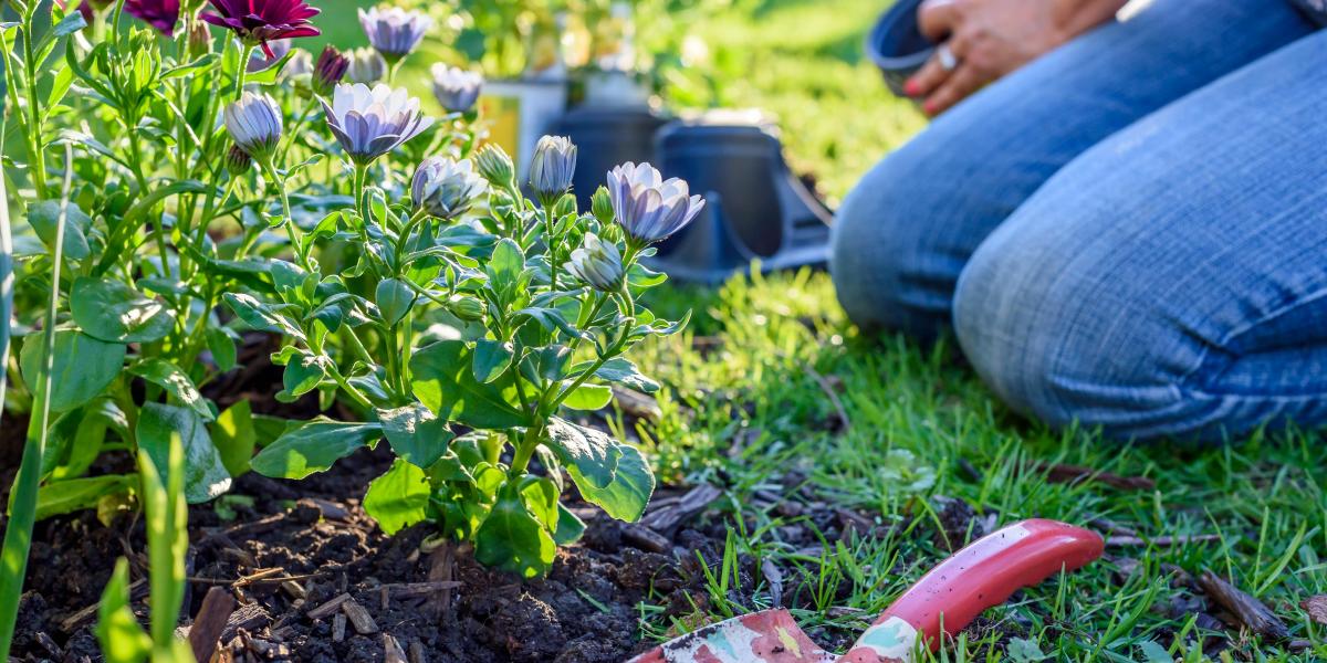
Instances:
[[[666,480],[711,481],[729,488],[721,501],[746,520],[733,553],[774,562],[786,586],[803,591],[796,606],[803,627],[827,642],[851,640],[893,598],[946,556],[937,544],[940,496],[957,497],[994,514],[999,525],[1027,517],[1085,524],[1096,518],[1136,529],[1141,537],[1221,534],[1221,541],[1169,548],[1111,549],[1111,558],[1015,597],[986,617],[989,635],[949,651],[953,660],[985,659],[1023,638],[1052,659],[1143,660],[1140,647],[1193,634],[1190,617],[1162,610],[1196,594],[1172,585],[1170,570],[1210,569],[1233,578],[1271,606],[1294,638],[1318,643],[1316,654],[1290,655],[1273,643],[1237,636],[1242,656],[1283,660],[1327,655],[1327,629],[1296,607],[1327,593],[1327,446],[1307,434],[1254,436],[1216,448],[1120,446],[1084,431],[1056,432],[1023,422],[993,400],[945,347],[924,351],[905,339],[863,337],[835,304],[823,274],[734,281],[718,293],[678,289],[660,302],[693,306],[686,335],[653,346],[642,366],[671,386],[657,426],[624,431],[653,451]],[[717,347],[706,354],[693,347]],[[836,408],[816,375],[841,381],[840,399],[851,426],[833,432]],[[735,457],[729,450],[742,439]],[[978,468],[973,479],[962,467]],[[1125,476],[1147,476],[1154,491],[1119,491],[1101,484],[1051,484],[1036,463],[1088,465]],[[783,492],[780,479],[803,472],[809,493],[835,505],[897,525],[885,538],[827,542],[808,556],[780,538],[798,518],[752,508],[752,495]],[[805,501],[805,497],[794,497]],[[707,560],[718,565],[722,560]],[[1141,562],[1120,578],[1127,561]],[[717,573],[701,614],[677,623],[658,617],[646,631],[675,635],[685,627],[768,607],[767,587],[722,590]],[[731,589],[731,587],[729,587]],[[752,593],[754,589],[754,593]],[[723,597],[751,595],[734,605]],[[788,595],[786,593],[786,595]],[[660,597],[662,601],[664,597]],[[839,610],[831,610],[839,609]],[[841,609],[857,611],[847,614]],[[1184,638],[1181,638],[1181,643]],[[1197,648],[1170,651],[1201,660]],[[994,654],[991,654],[994,655]],[[1015,659],[1016,660],[1016,659]]]

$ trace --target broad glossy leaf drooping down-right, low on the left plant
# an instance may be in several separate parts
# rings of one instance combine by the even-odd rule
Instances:
[[[143,403],[138,411],[138,448],[157,467],[169,467],[170,436],[179,434],[184,450],[184,499],[199,504],[231,489],[231,475],[222,464],[207,427],[198,412],[183,407]]]

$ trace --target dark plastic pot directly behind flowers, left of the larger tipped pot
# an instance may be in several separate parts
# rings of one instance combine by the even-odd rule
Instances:
[[[557,134],[579,147],[572,186],[581,210],[604,184],[604,175],[626,162],[654,162],[654,133],[666,118],[649,107],[580,106],[557,122]]]

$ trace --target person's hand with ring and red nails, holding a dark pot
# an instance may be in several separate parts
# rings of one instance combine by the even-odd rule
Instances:
[[[942,44],[904,90],[925,99],[928,115],[949,110],[1068,41],[1074,34],[1062,20],[1063,5],[1063,0],[925,0],[917,23],[922,34]]]

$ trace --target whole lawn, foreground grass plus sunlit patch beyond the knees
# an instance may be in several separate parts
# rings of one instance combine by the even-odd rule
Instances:
[[[703,28],[721,36],[717,60],[729,65],[719,98],[775,113],[790,160],[832,200],[922,126],[860,56],[871,5],[771,0]],[[721,503],[742,525],[725,554],[778,569],[783,605],[823,643],[851,642],[943,558],[937,532],[965,538],[983,525],[1048,517],[1116,538],[1104,560],[987,611],[942,660],[1327,655],[1327,629],[1298,607],[1327,591],[1327,446],[1318,435],[1192,448],[1051,431],[995,402],[951,345],[926,350],[863,334],[823,273],[674,298],[695,309],[694,322],[644,358],[671,389],[658,426],[636,432],[662,476],[726,488]],[[1050,481],[1048,469],[1066,464],[1147,481]],[[799,513],[817,501],[871,514],[877,536],[819,549],[790,542],[816,529]],[[1127,530],[1141,542],[1120,537]],[[1213,619],[1217,606],[1192,581],[1204,570],[1262,599],[1300,642],[1269,643]],[[772,605],[768,577],[736,586],[739,575],[717,577],[681,615],[652,617],[662,609],[644,606],[646,633],[665,638]]]

